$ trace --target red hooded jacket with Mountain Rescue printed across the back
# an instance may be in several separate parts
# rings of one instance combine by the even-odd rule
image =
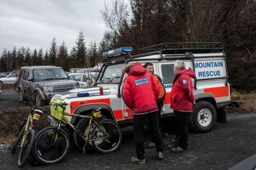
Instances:
[[[159,89],[153,75],[141,63],[135,63],[123,80],[122,98],[133,114],[146,114],[158,110],[156,99]]]

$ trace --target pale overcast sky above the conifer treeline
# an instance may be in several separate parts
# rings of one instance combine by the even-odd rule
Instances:
[[[0,0],[0,52],[25,46],[45,52],[55,37],[70,49],[79,31],[86,45],[99,43],[106,29],[100,10],[103,0]]]

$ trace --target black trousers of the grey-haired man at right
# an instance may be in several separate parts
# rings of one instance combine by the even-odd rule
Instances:
[[[187,149],[187,141],[189,139],[189,126],[188,120],[190,118],[191,112],[181,112],[174,110],[174,118],[175,118],[175,143],[183,148]]]

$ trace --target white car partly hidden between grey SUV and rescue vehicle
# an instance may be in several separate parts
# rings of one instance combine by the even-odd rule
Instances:
[[[87,73],[71,73],[69,74],[70,80],[74,80],[79,83],[79,88],[93,86],[94,79]]]

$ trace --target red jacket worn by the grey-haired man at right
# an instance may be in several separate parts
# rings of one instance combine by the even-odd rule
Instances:
[[[171,89],[171,108],[177,111],[193,111],[193,84],[191,78],[195,78],[195,72],[189,68],[182,70],[173,81]]]

